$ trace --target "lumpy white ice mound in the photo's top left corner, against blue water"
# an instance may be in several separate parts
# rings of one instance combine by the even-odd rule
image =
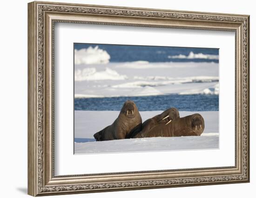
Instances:
[[[106,64],[110,56],[107,51],[89,46],[87,49],[74,50],[74,64]]]

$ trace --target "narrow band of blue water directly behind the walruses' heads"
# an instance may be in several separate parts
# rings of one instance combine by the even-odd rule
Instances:
[[[162,95],[105,98],[75,98],[74,110],[120,111],[125,101],[132,100],[140,111],[157,111],[175,107],[179,111],[218,111],[219,95]]]

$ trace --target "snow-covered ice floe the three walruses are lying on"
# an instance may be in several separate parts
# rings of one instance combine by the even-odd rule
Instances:
[[[162,111],[141,111],[142,121]],[[187,149],[217,149],[219,147],[219,112],[181,111],[181,117],[200,113],[205,121],[205,129],[201,136],[187,137],[155,137],[124,139],[113,141],[94,140],[94,133],[113,123],[119,111],[75,111],[74,138],[86,138],[88,142],[74,143],[74,153],[120,153]]]

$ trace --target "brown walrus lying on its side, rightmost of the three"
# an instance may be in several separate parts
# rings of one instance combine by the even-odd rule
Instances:
[[[176,119],[166,125],[161,123],[151,128],[146,133],[139,133],[140,137],[177,137],[177,136],[200,136],[204,130],[204,120],[202,115],[193,114]]]

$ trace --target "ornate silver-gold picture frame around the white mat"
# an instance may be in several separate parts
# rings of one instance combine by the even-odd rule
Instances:
[[[236,33],[235,166],[54,176],[54,22]],[[52,2],[28,4],[28,194],[249,182],[249,16]]]

